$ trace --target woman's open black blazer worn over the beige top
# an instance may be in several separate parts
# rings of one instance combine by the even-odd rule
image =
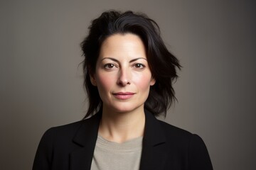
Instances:
[[[101,115],[47,130],[33,170],[90,170]],[[140,169],[213,169],[201,137],[157,120],[147,111],[145,115]]]

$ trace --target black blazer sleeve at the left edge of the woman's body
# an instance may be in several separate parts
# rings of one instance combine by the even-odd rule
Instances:
[[[33,162],[33,170],[50,170],[53,157],[53,130],[49,129],[41,138]]]

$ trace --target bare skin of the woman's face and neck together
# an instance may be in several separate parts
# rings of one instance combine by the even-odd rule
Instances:
[[[103,103],[101,135],[116,142],[143,135],[144,102],[155,80],[139,36],[127,33],[107,38],[91,82]]]

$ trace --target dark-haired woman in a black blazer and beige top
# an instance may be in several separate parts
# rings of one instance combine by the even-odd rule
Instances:
[[[33,169],[213,169],[198,135],[155,118],[174,101],[180,64],[143,14],[107,11],[82,42],[85,119],[50,128]]]

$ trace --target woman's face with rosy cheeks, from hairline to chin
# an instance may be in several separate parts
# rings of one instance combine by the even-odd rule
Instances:
[[[107,38],[91,82],[97,86],[105,111],[142,111],[155,80],[139,36],[127,33]]]

